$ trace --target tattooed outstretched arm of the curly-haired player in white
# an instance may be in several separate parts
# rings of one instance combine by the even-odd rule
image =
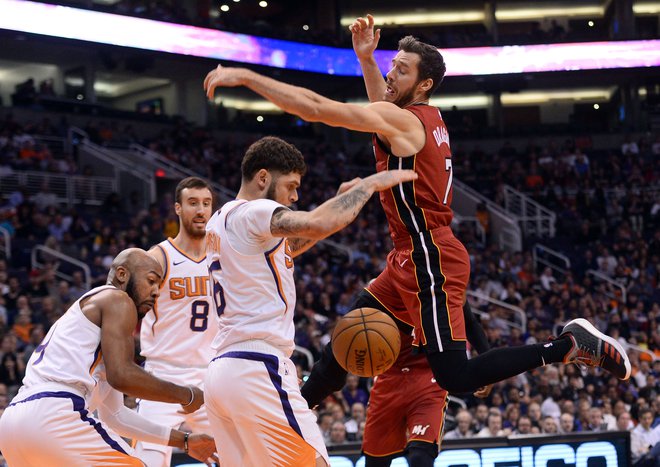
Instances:
[[[353,222],[373,193],[416,178],[417,174],[412,170],[388,170],[373,174],[313,211],[275,210],[270,231],[276,237],[321,240]]]

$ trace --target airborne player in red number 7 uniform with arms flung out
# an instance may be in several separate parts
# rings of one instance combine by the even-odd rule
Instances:
[[[375,46],[374,46],[375,47]],[[373,133],[376,169],[414,169],[419,178],[381,193],[394,250],[385,270],[362,292],[362,303],[400,316],[414,327],[437,383],[450,393],[478,388],[548,363],[599,366],[630,377],[623,347],[584,319],[569,322],[555,340],[466,355],[463,300],[470,275],[468,253],[454,237],[452,157],[449,134],[431,94],[446,66],[436,47],[407,36],[399,41],[383,80],[373,54],[360,58],[369,95],[382,100],[363,107],[325,98],[245,68],[218,65],[205,81],[209,98],[218,86],[245,86],[303,120]],[[330,344],[331,345],[331,344]],[[345,372],[330,345],[306,382],[310,403],[341,389]]]

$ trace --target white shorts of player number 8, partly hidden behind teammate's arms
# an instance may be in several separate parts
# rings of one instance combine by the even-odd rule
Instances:
[[[204,389],[204,376],[206,368],[181,368],[167,363],[154,362],[147,360],[144,369],[154,376],[157,376],[172,383],[183,386],[197,386]],[[137,412],[143,417],[147,417],[154,423],[178,429],[184,422],[194,433],[211,434],[211,426],[206,415],[206,405],[202,405],[198,410],[191,414],[184,414],[179,404],[168,404],[167,402],[157,402],[141,399],[138,401]],[[159,451],[164,453],[166,459],[171,459],[172,447],[162,444],[137,442],[135,453],[141,457],[143,450]],[[169,465],[169,463],[168,463]]]

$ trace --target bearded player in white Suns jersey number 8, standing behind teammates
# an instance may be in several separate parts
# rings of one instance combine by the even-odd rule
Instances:
[[[206,367],[215,356],[211,343],[218,329],[205,261],[205,229],[213,194],[206,181],[188,177],[177,185],[174,201],[179,233],[149,250],[165,274],[153,312],[142,320],[141,354],[149,373],[203,388]],[[193,431],[210,432],[205,406],[185,414],[173,404],[141,400],[138,412],[171,428],[185,422]],[[148,467],[168,467],[172,460],[172,448],[162,444],[140,442],[136,452]]]

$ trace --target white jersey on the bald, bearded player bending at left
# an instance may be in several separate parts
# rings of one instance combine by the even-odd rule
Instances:
[[[80,301],[112,285],[96,287],[80,297],[50,328],[34,350],[25,370],[23,388],[54,382],[76,387],[86,398],[97,384],[101,363],[101,328],[80,309]],[[23,389],[22,388],[22,389]]]

